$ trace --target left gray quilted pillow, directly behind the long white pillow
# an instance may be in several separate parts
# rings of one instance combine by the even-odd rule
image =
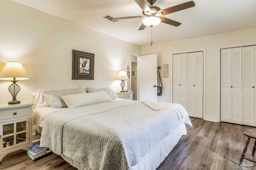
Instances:
[[[62,107],[67,107],[67,105],[62,100],[61,96],[68,96],[71,94],[80,94],[80,93],[86,93],[86,91],[83,88],[52,90],[52,91],[48,91],[48,92],[44,93],[43,96],[48,101],[48,104],[50,105],[50,107],[62,108]]]

